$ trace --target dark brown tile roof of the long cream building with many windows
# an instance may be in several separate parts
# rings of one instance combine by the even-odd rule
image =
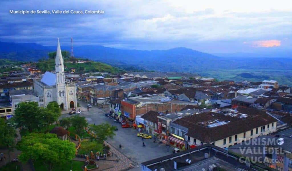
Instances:
[[[251,112],[255,109],[243,109],[239,107],[242,112]],[[239,111],[238,111],[239,112]],[[239,113],[241,113],[239,112]],[[242,132],[250,131],[253,128],[260,127],[272,122],[277,122],[276,119],[270,115],[263,114],[263,112],[253,111],[249,113],[251,117],[245,119],[225,116],[223,114],[217,114],[213,112],[206,112],[197,115],[186,116],[181,119],[177,119],[173,123],[187,127],[189,131],[187,136],[193,137],[204,143],[212,143],[229,136],[240,134]],[[208,122],[217,119],[219,121],[230,121],[227,124],[223,124],[215,127],[207,127],[202,122]]]

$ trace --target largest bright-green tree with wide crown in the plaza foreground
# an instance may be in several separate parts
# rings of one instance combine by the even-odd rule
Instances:
[[[18,143],[21,151],[19,159],[22,163],[32,159],[42,161],[47,170],[51,171],[53,166],[62,165],[75,157],[75,144],[57,138],[56,134],[30,133],[23,136]]]

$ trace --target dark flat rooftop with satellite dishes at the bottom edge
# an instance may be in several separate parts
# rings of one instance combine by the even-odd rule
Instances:
[[[206,155],[209,154],[209,156]],[[237,157],[228,154],[226,150],[205,144],[197,148],[191,148],[186,151],[166,155],[160,158],[141,163],[149,170],[236,170],[238,168],[246,169],[244,163],[236,160]]]

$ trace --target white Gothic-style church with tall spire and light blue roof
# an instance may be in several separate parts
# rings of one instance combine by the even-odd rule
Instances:
[[[46,107],[49,102],[56,101],[63,110],[77,107],[75,84],[65,82],[64,60],[59,38],[55,57],[55,73],[46,71],[41,79],[35,79],[34,91],[40,99],[40,106]]]

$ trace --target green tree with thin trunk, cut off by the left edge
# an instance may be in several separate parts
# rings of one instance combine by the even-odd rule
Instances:
[[[5,123],[5,120],[0,118],[0,144],[8,149],[8,161],[10,161],[10,151],[15,147],[16,131],[11,124]]]

